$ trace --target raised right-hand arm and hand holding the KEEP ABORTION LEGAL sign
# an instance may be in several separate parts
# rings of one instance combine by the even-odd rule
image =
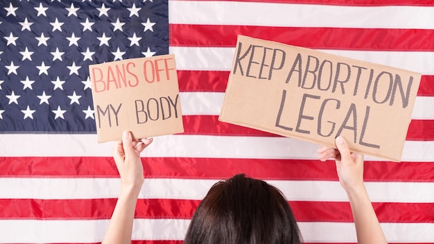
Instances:
[[[351,153],[342,137],[336,138],[336,147],[338,150],[320,148],[318,158],[321,161],[335,158],[339,182],[347,192],[351,205],[358,244],[387,243],[363,183],[363,155]]]

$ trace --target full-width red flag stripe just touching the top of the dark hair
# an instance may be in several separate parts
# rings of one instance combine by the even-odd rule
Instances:
[[[142,158],[149,178],[337,180],[332,160]],[[112,157],[0,157],[0,177],[119,177]],[[55,165],[55,167],[53,167]],[[297,171],[294,170],[297,168]],[[434,162],[365,162],[367,182],[434,182]]]

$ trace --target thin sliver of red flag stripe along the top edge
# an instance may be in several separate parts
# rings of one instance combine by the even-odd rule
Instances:
[[[179,1],[179,0],[173,0]],[[189,1],[204,1],[204,0],[189,0]],[[227,1],[227,0],[215,0]],[[263,3],[264,0],[236,0]],[[323,5],[338,5],[338,6],[434,6],[431,0],[266,0],[267,3],[302,3],[302,4],[323,4]],[[345,243],[343,243],[345,244]]]

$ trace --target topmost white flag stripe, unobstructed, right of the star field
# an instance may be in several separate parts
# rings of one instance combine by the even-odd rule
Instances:
[[[426,6],[169,1],[169,24],[434,29]]]

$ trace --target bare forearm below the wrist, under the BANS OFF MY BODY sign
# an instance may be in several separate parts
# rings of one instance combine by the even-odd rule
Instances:
[[[119,199],[114,207],[112,219],[107,232],[105,232],[103,244],[131,243],[132,223],[137,204],[138,193],[131,190],[121,191]]]

